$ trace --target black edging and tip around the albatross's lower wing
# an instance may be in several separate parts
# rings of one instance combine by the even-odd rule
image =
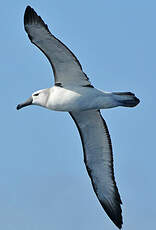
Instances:
[[[76,122],[76,119],[74,118],[74,116],[72,115],[71,112],[69,112],[70,116],[72,117],[78,131],[79,131],[79,135],[80,135],[80,138],[81,138],[81,143],[82,143],[82,148],[83,148],[83,153],[84,153],[84,163],[86,165],[86,169],[87,169],[87,172],[88,172],[88,175],[91,179],[91,183],[92,183],[92,186],[93,186],[93,190],[100,202],[100,204],[102,205],[103,209],[105,210],[105,212],[107,213],[107,215],[109,216],[109,218],[113,221],[113,223],[119,228],[121,229],[122,228],[122,224],[123,224],[123,219],[122,219],[122,209],[121,209],[121,204],[122,204],[122,201],[121,201],[121,198],[120,198],[120,194],[119,194],[119,191],[118,191],[118,188],[117,188],[117,185],[116,185],[116,182],[115,182],[115,177],[114,177],[114,167],[113,167],[113,152],[112,152],[112,143],[111,143],[111,138],[110,138],[110,134],[109,134],[109,131],[108,131],[108,128],[107,128],[107,125],[106,125],[106,122],[105,120],[103,119],[101,113],[100,113],[100,110],[98,110],[99,112],[99,115],[103,121],[103,126],[104,128],[106,129],[106,133],[107,133],[107,137],[108,137],[108,140],[109,140],[109,145],[110,145],[110,149],[111,149],[111,157],[112,157],[112,180],[114,182],[114,186],[115,186],[115,200],[116,200],[116,212],[114,212],[114,210],[112,209],[111,205],[109,206],[106,206],[104,202],[102,202],[101,200],[99,200],[98,198],[98,194],[96,192],[96,185],[94,184],[93,182],[93,179],[91,177],[91,174],[90,174],[90,169],[87,165],[87,161],[86,161],[86,153],[85,153],[85,145],[84,145],[84,141],[83,141],[83,135],[82,135],[82,132],[78,126],[78,123]],[[109,204],[109,202],[106,200],[107,204]]]

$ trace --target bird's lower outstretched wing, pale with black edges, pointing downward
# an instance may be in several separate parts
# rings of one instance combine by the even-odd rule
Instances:
[[[93,189],[108,216],[121,228],[121,199],[115,183],[111,139],[100,111],[70,113],[79,130]]]

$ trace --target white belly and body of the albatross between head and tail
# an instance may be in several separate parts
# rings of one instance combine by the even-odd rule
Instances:
[[[54,86],[46,107],[57,111],[84,111],[116,106],[111,93],[90,87],[63,88]]]

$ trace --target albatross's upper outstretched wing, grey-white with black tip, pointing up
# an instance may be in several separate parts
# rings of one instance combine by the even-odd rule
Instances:
[[[90,85],[88,77],[83,73],[75,55],[50,33],[48,26],[30,6],[27,6],[25,10],[24,27],[31,42],[50,61],[56,85]]]

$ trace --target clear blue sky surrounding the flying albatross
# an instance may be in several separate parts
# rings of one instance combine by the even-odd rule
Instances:
[[[93,192],[68,113],[16,110],[33,91],[53,84],[48,60],[24,31],[28,4],[75,53],[94,86],[140,98],[136,108],[102,114],[113,143],[123,229],[154,229],[156,2],[144,0],[1,3],[0,228],[116,229]]]

